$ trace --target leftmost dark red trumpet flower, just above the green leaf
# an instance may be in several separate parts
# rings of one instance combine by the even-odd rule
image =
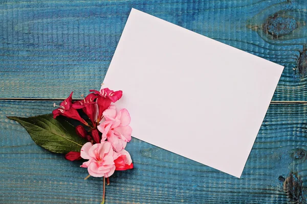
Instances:
[[[71,92],[69,97],[66,98],[60,104],[58,109],[55,109],[55,110],[52,111],[53,118],[56,118],[57,116],[62,115],[62,116],[68,117],[68,118],[79,120],[80,122],[82,122],[85,125],[89,125],[89,124],[87,124],[87,122],[83,118],[81,118],[78,111],[74,107],[72,107],[72,95],[73,95],[73,92]],[[55,106],[56,105],[54,104],[54,107]]]

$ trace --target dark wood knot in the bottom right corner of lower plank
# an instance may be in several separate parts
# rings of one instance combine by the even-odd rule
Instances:
[[[306,201],[303,194],[303,182],[295,173],[290,173],[284,181],[283,192],[287,194],[290,203],[303,204]]]

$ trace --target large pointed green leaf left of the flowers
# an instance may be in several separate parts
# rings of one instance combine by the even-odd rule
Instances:
[[[8,118],[23,125],[36,144],[55,153],[80,152],[87,142],[76,134],[73,125],[62,118],[53,119],[52,114]]]

